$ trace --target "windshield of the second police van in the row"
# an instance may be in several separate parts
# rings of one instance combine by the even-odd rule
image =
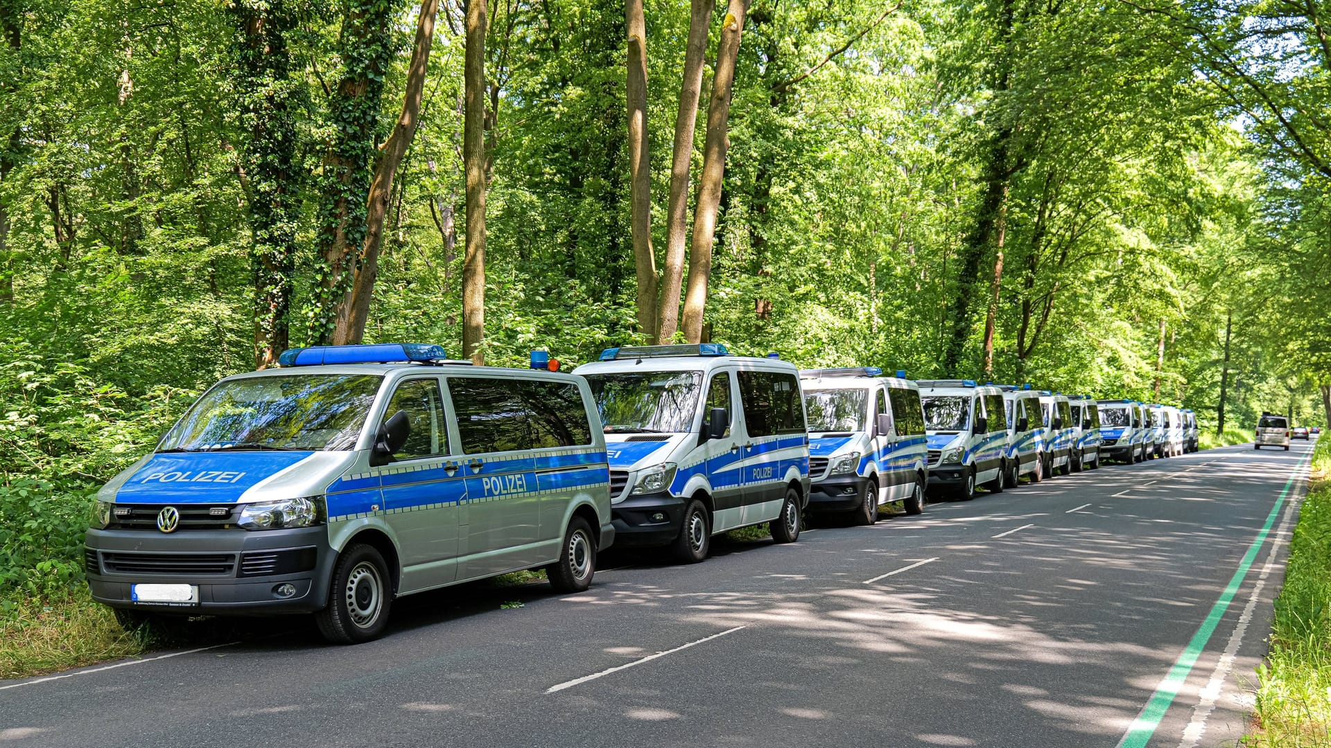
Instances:
[[[693,429],[703,374],[590,374],[587,383],[607,434],[675,434]]]

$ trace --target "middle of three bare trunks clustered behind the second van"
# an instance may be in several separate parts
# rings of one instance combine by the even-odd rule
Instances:
[[[703,91],[707,29],[713,7],[713,0],[689,3],[688,44],[684,48],[684,75],[679,89],[675,149],[669,169],[669,202],[666,209],[666,266],[658,305],[656,341],[662,343],[668,343],[679,326],[679,291],[684,282],[684,244],[688,238],[688,166],[693,156],[697,97]]]

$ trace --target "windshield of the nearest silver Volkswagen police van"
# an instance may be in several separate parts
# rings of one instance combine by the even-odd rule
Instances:
[[[189,409],[157,450],[350,450],[382,379],[295,374],[222,382]]]

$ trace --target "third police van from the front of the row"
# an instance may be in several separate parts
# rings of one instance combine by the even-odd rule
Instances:
[[[878,507],[925,507],[928,455],[920,387],[876,366],[800,371],[809,419],[809,511],[878,520]]]

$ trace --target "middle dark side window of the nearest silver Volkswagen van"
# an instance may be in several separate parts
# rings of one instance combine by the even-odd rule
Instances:
[[[466,454],[531,449],[527,406],[515,379],[449,377],[458,435]]]

